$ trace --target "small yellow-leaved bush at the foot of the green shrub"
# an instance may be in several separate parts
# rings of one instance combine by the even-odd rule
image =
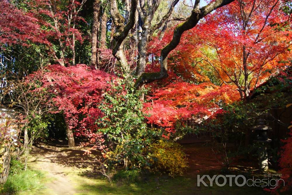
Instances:
[[[159,140],[150,147],[150,162],[154,171],[168,173],[169,176],[182,175],[187,168],[187,158],[178,143]]]

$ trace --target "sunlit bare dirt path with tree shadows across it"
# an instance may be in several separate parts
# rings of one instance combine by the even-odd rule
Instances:
[[[52,179],[46,189],[38,194],[73,195],[78,193],[72,176],[92,169],[91,157],[83,156],[85,148],[68,148],[65,142],[41,143],[32,148],[29,166],[47,172]]]

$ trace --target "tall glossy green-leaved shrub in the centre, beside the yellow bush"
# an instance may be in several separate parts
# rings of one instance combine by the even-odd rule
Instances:
[[[144,122],[140,98],[145,92],[134,93],[132,79],[128,78],[112,81],[111,89],[104,94],[99,108],[105,116],[97,123],[107,138],[107,157],[112,164],[130,169],[149,166],[145,147],[153,142],[157,132]]]

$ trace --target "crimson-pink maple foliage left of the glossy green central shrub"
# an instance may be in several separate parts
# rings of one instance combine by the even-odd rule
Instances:
[[[35,90],[50,94],[52,104],[64,114],[65,122],[76,136],[84,136],[91,142],[103,139],[96,133],[96,119],[102,117],[98,109],[102,94],[107,90],[111,75],[85,64],[76,66],[49,65],[45,71],[28,75],[26,82],[39,78]]]

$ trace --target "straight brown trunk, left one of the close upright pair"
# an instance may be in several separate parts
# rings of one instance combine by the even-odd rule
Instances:
[[[99,13],[100,1],[95,0],[93,3],[93,23],[92,23],[92,49],[91,49],[91,65],[97,69],[97,48],[98,48],[98,34],[99,34]]]

